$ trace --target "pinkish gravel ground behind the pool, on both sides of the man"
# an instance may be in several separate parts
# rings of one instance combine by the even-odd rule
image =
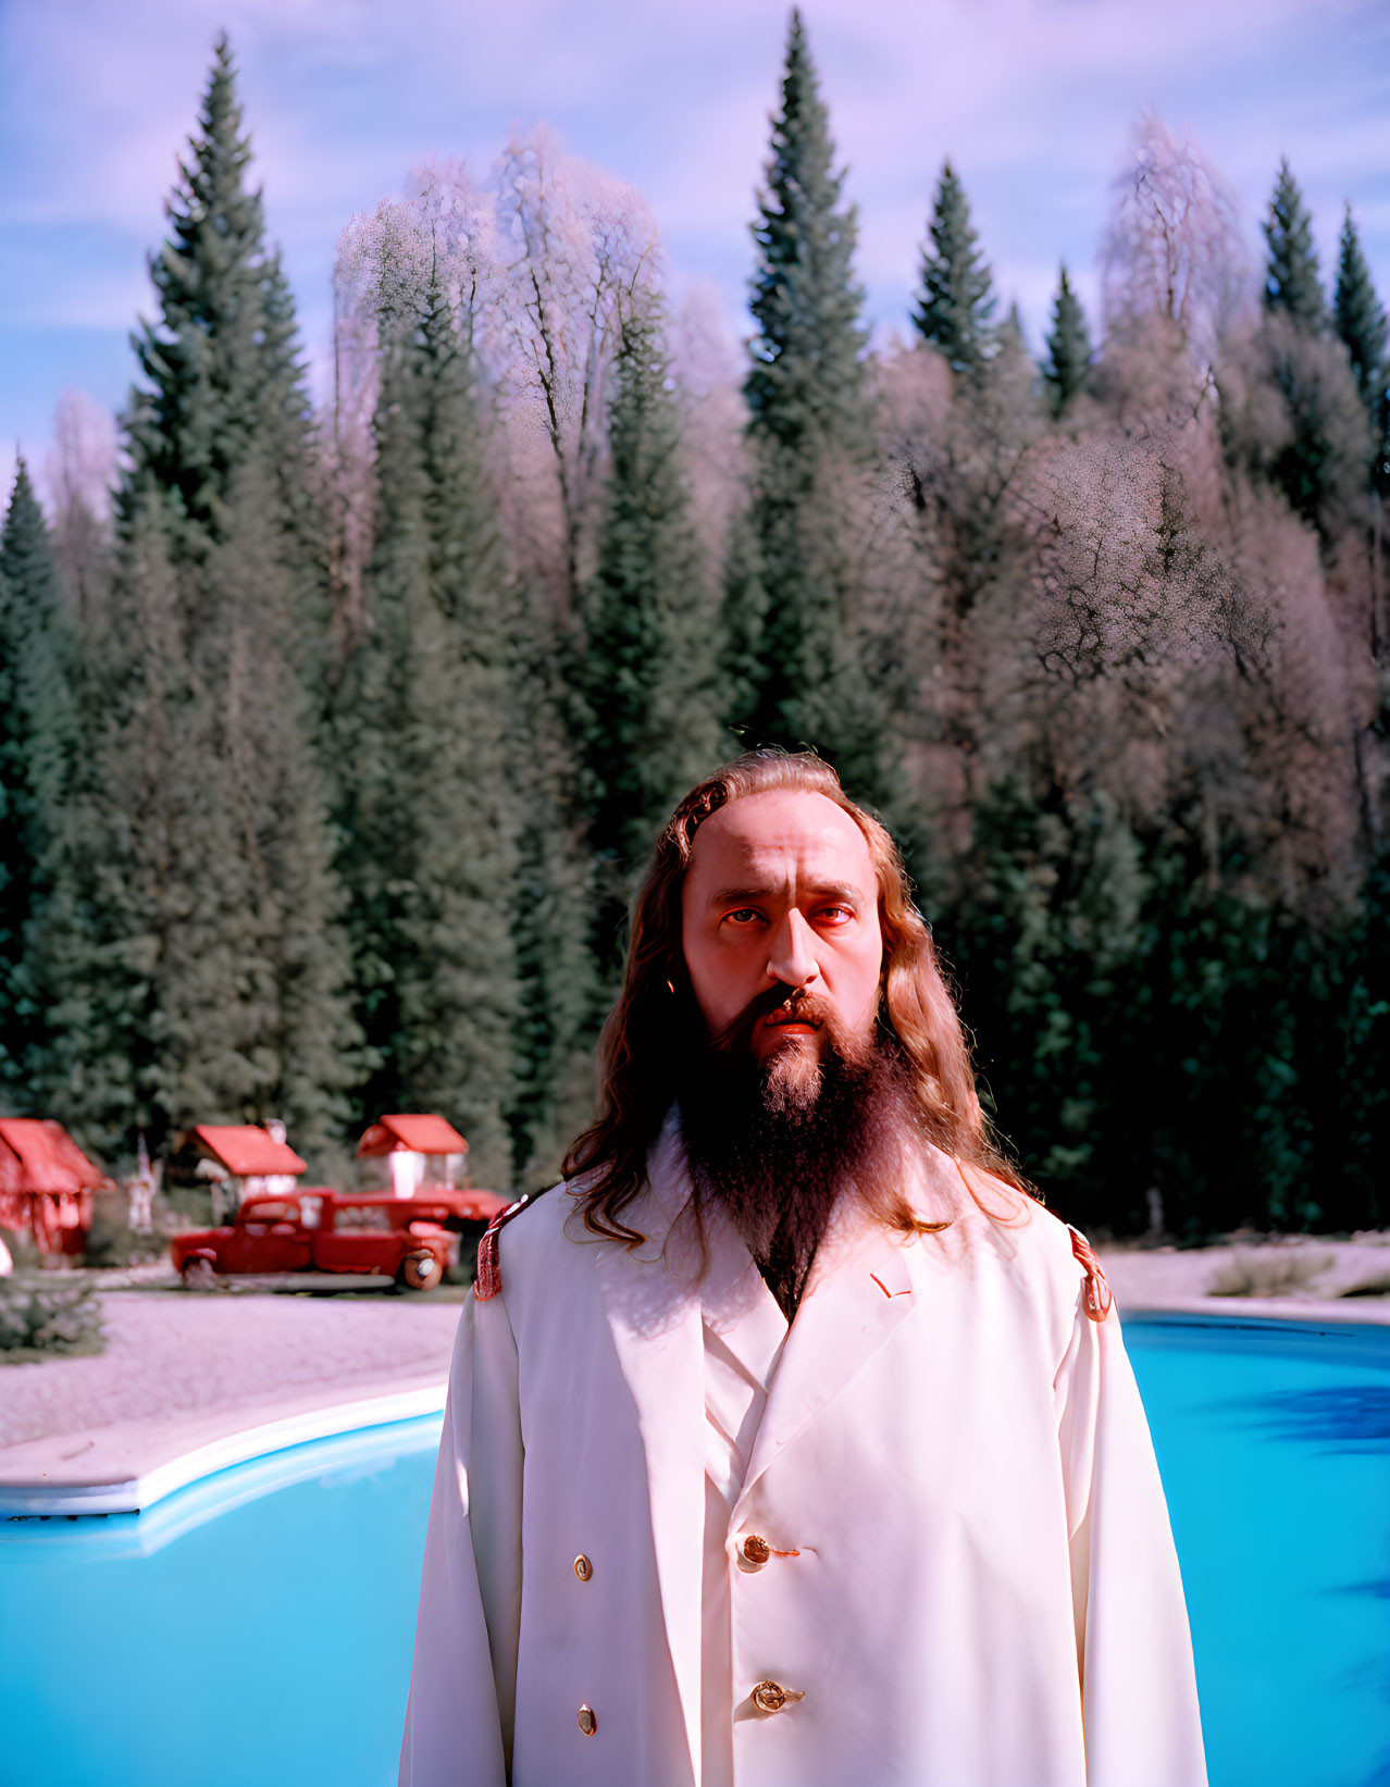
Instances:
[[[1277,1308],[1290,1315],[1299,1306],[1311,1313],[1310,1305],[1326,1305],[1352,1285],[1390,1281],[1390,1233],[1338,1242],[1251,1237],[1224,1247],[1120,1246],[1099,1253],[1120,1313],[1204,1297],[1236,1254],[1261,1297],[1276,1267],[1304,1262],[1302,1283],[1277,1297]],[[1331,1263],[1324,1265],[1327,1256]],[[1372,1303],[1385,1299],[1358,1299],[1367,1319],[1377,1313]],[[114,1422],[250,1412],[339,1385],[350,1394],[354,1383],[429,1372],[443,1380],[459,1321],[457,1303],[413,1305],[381,1294],[332,1299],[125,1288],[107,1290],[102,1308],[107,1346],[100,1358],[0,1365],[0,1447]],[[1222,1313],[1238,1310],[1238,1303],[1220,1299]]]

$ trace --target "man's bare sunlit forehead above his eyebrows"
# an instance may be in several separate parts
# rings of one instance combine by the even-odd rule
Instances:
[[[849,813],[811,790],[745,795],[718,808],[695,833],[690,879],[720,883],[818,876],[874,890],[868,842]]]

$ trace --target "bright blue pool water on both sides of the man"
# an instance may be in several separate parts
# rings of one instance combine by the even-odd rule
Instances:
[[[1126,1337],[1213,1787],[1390,1787],[1390,1328]],[[0,1523],[4,1787],[389,1787],[438,1433],[320,1440],[143,1515]]]

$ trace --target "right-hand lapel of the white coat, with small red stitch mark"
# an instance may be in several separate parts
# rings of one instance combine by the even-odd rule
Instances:
[[[772,1380],[733,1524],[754,1483],[849,1385],[920,1301],[909,1272],[915,1238],[867,1224],[822,1244]]]

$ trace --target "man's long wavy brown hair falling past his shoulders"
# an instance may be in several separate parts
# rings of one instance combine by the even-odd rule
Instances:
[[[881,1042],[897,1047],[902,1058],[920,1135],[950,1156],[988,1215],[1006,1219],[1006,1212],[992,1210],[981,1197],[965,1167],[976,1167],[1015,1192],[1036,1192],[1004,1158],[981,1112],[961,1020],[931,935],[913,906],[897,845],[872,813],[849,799],[829,763],[809,752],[750,751],[725,763],[681,801],[657,838],[652,867],[638,890],[622,994],[599,1042],[599,1119],[565,1156],[566,1179],[584,1174],[577,1188],[584,1226],[629,1246],[645,1238],[622,1221],[622,1212],[645,1183],[647,1154],[681,1090],[677,1070],[684,1051],[675,1045],[679,1029],[702,1022],[681,945],[681,888],[695,833],[731,801],[774,792],[820,793],[849,813],[863,833],[879,883],[884,952],[877,1019]],[[920,1222],[906,1199],[897,1199],[879,1215],[904,1231],[942,1226]]]

